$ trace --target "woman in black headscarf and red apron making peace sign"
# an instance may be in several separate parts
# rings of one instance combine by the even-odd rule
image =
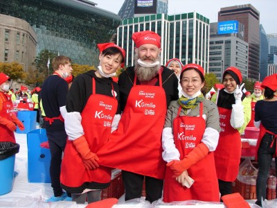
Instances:
[[[220,139],[214,154],[221,196],[232,193],[232,182],[238,175],[240,165],[240,135],[251,119],[251,105],[242,92],[244,83],[240,70],[227,68],[223,73],[223,85],[218,98],[214,94],[211,99],[220,112]]]

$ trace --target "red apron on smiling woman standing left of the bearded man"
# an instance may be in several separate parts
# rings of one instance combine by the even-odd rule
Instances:
[[[111,123],[116,114],[118,101],[115,96],[96,94],[95,80],[92,79],[93,92],[82,111],[82,127],[92,153],[96,153],[108,140]],[[114,87],[111,84],[113,90]],[[62,159],[61,183],[67,187],[80,187],[84,182],[108,183],[111,181],[111,168],[100,166],[96,170],[84,167],[82,157],[72,141],[66,141]]]

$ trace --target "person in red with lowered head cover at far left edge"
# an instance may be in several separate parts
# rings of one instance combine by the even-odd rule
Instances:
[[[10,77],[0,73],[0,141],[15,141],[14,131],[18,128],[24,130],[24,125],[12,112],[13,105],[8,94],[10,89]]]

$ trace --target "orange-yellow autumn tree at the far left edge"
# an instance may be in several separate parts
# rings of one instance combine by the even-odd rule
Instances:
[[[3,63],[0,62],[0,71],[10,77],[12,81],[22,82],[27,77],[23,66],[17,62]]]

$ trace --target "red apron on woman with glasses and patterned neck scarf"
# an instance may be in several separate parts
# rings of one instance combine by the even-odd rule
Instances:
[[[181,106],[173,122],[173,132],[180,159],[184,159],[202,141],[206,122],[202,117],[203,103],[200,103],[199,116],[179,116],[180,112]],[[202,200],[219,202],[220,191],[214,167],[213,153],[209,153],[204,159],[188,168],[188,175],[195,180],[190,189],[183,187],[175,178],[172,178],[173,172],[170,167],[166,167],[163,201]]]

